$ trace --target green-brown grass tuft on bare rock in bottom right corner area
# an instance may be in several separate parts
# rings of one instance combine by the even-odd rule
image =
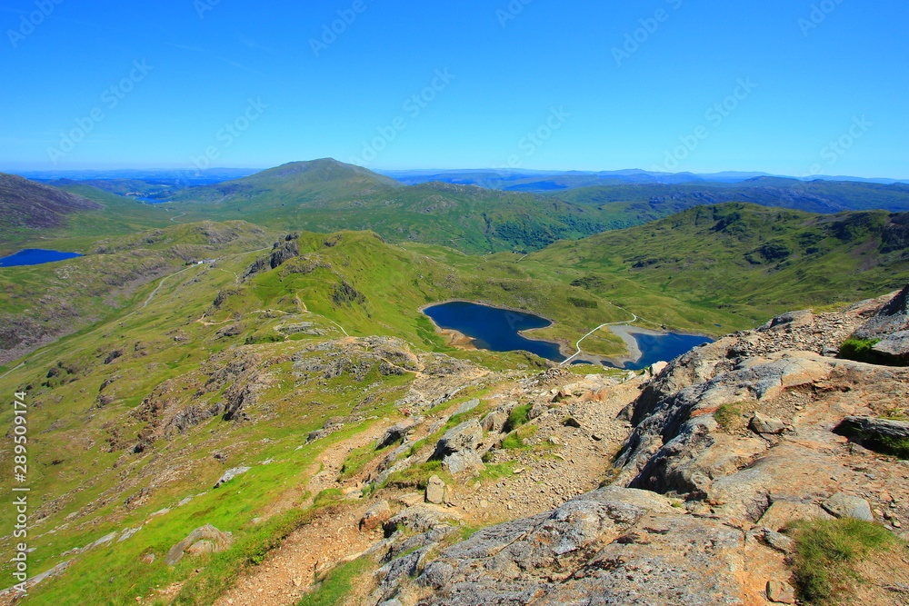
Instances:
[[[896,541],[874,522],[853,518],[794,522],[795,581],[799,597],[814,604],[831,603],[856,581],[854,567],[870,551],[883,551]]]

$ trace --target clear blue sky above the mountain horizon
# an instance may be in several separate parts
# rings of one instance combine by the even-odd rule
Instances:
[[[333,156],[905,178],[907,16],[857,0],[0,0],[0,171]]]

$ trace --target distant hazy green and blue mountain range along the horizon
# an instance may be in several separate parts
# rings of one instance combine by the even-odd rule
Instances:
[[[244,220],[288,231],[373,230],[390,242],[437,243],[465,253],[527,253],[558,240],[645,224],[704,204],[744,202],[819,214],[909,211],[909,185],[900,183],[804,182],[744,173],[710,175],[727,181],[704,181],[691,174],[691,180],[682,183],[654,183],[648,181],[654,174],[644,171],[542,176],[477,171],[447,173],[445,181],[427,181],[439,174],[425,173],[412,175],[410,180],[419,183],[408,184],[407,179],[402,183],[361,166],[323,158],[188,187],[161,179],[93,178],[56,179],[50,182],[55,190],[22,177],[10,175],[9,179],[22,185],[23,191],[31,184],[32,190],[44,187],[41,191],[64,190],[80,196],[85,201],[81,205],[54,212],[82,217],[76,222],[80,235],[107,233],[115,222],[120,233],[128,233],[130,225],[125,222],[133,222],[133,217],[135,227],[145,228],[161,222]],[[493,176],[500,182],[484,181]],[[166,204],[135,204],[137,198]],[[9,207],[18,216],[46,214],[46,204],[29,206],[17,199],[13,194],[0,197],[0,210]],[[101,206],[85,206],[89,201]],[[99,211],[102,207],[105,210]],[[73,235],[73,229],[63,227],[74,225],[73,221],[57,218],[46,225],[57,226],[61,235]]]

